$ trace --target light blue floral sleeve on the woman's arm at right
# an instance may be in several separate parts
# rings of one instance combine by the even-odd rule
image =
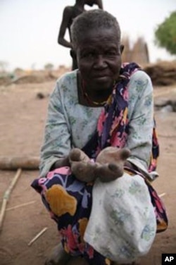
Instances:
[[[129,135],[127,147],[131,150],[128,161],[139,161],[146,169],[151,157],[153,132],[153,86],[149,75],[137,71],[129,83]]]

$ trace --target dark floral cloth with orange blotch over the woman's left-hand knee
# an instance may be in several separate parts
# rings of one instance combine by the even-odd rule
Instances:
[[[84,230],[92,209],[92,183],[75,179],[70,168],[50,171],[46,178],[33,181],[32,187],[42,196],[42,202],[56,221],[66,252],[82,256],[92,265],[111,262],[84,242]]]

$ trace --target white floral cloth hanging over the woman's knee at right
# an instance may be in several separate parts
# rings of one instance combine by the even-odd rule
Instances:
[[[149,252],[155,235],[156,216],[141,176],[124,173],[110,183],[96,180],[84,233],[89,245],[112,261],[125,263]]]

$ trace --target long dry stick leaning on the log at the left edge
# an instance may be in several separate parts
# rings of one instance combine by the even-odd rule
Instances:
[[[20,177],[20,174],[22,173],[21,168],[18,168],[18,171],[15,174],[15,177],[13,178],[11,185],[8,187],[8,189],[6,190],[6,192],[4,193],[4,197],[3,197],[3,202],[2,202],[2,206],[1,206],[1,212],[0,212],[0,231],[1,231],[1,227],[4,221],[4,216],[5,216],[5,212],[6,212],[6,205],[8,203],[8,199],[11,195],[11,191],[13,190],[13,187],[15,187],[15,184],[18,180],[18,178]]]

